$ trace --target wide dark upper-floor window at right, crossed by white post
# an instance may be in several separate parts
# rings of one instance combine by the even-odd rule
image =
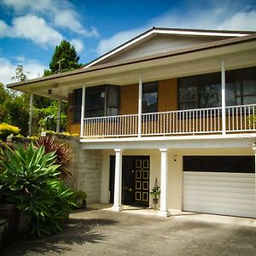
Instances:
[[[256,103],[256,67],[226,72],[226,105]],[[221,73],[210,73],[178,80],[178,108],[221,106]]]

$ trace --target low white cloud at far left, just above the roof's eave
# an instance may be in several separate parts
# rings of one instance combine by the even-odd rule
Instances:
[[[14,83],[15,69],[17,65],[23,65],[27,73],[28,79],[35,79],[44,74],[44,69],[48,67],[35,60],[24,60],[22,62],[13,63],[5,58],[0,58],[0,82],[3,84]]]

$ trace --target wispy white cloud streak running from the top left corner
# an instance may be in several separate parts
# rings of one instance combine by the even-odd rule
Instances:
[[[25,15],[28,12],[44,15],[55,26],[67,28],[84,37],[98,37],[95,27],[85,29],[79,20],[79,14],[74,11],[74,6],[67,0],[3,0],[5,6],[15,10],[16,14]]]

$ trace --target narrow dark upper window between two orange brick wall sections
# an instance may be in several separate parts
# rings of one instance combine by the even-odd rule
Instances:
[[[157,112],[158,83],[143,84],[143,113]]]

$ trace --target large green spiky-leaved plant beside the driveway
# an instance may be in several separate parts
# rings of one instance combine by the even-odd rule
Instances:
[[[73,190],[66,189],[59,179],[55,153],[45,154],[44,146],[28,148],[18,145],[8,158],[1,160],[0,174],[6,200],[24,212],[32,237],[56,234],[63,229],[75,206]]]

